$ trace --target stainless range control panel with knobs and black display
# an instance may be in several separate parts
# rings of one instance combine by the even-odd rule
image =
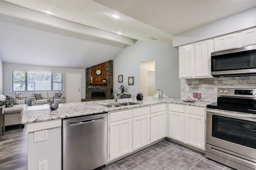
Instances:
[[[218,97],[256,98],[256,89],[218,88]]]

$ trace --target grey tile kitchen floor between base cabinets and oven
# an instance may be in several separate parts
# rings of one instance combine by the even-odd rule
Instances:
[[[161,141],[126,158],[118,160],[103,170],[234,170],[209,160],[205,154],[173,143]]]

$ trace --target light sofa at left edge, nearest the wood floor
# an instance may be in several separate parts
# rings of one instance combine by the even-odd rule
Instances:
[[[7,97],[7,100],[6,100]],[[0,100],[1,101],[8,101],[8,96],[4,96],[0,94]],[[23,109],[24,107],[28,106],[25,104],[24,100],[16,100],[14,97],[11,97],[12,100],[16,101],[16,104],[13,104],[8,102],[5,106],[5,123],[4,126],[10,126],[10,125],[20,125],[21,124],[21,119],[22,119],[22,114],[23,114]],[[2,102],[4,103],[4,102]],[[22,128],[24,128],[24,125],[21,125]]]

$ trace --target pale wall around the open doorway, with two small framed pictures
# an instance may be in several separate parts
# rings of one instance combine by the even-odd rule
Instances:
[[[118,75],[124,75],[124,84],[132,98],[140,92],[140,62],[155,59],[156,89],[162,89],[168,97],[180,97],[178,78],[178,49],[171,45],[136,41],[125,47],[114,58],[114,92],[118,91]],[[134,76],[134,86],[128,86],[128,77]]]

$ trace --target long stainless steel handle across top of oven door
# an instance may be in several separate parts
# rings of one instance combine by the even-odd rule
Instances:
[[[256,115],[250,115],[250,114],[246,114],[246,113],[230,113],[230,111],[219,111],[219,110],[215,110],[215,109],[207,109],[207,112],[210,113],[217,113],[220,115],[227,115],[236,119],[246,119],[246,120],[250,120],[250,121],[256,121]]]

